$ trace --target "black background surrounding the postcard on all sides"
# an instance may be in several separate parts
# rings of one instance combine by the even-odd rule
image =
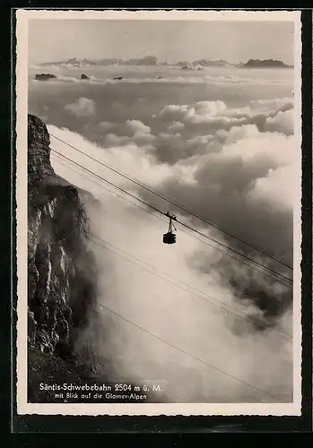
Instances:
[[[13,2],[12,2],[13,3]],[[143,4],[143,7],[126,6],[117,7],[117,4],[104,8],[94,2],[84,5],[79,9],[248,9],[251,8],[217,8],[213,5],[187,5],[176,4],[169,7],[160,4]],[[1,89],[0,98],[0,129],[2,134],[2,176],[4,181],[2,192],[4,201],[1,213],[1,248],[2,254],[7,250],[7,255],[1,260],[1,274],[7,274],[12,283],[9,291],[5,292],[0,300],[4,307],[2,324],[0,325],[0,341],[3,347],[1,353],[1,403],[7,403],[11,408],[11,416],[3,414],[6,420],[6,429],[13,433],[213,433],[213,432],[311,432],[312,431],[312,11],[302,9],[302,415],[301,417],[78,417],[78,416],[18,416],[15,404],[15,326],[16,326],[16,265],[15,265],[15,18],[13,8],[22,9],[78,9],[76,2],[21,2],[18,5],[4,5],[1,9],[0,33],[2,33],[2,51],[0,65]],[[59,6],[58,6],[59,4]],[[282,8],[253,8],[257,10],[274,10]],[[283,8],[288,10],[290,8]],[[300,9],[300,8],[292,8]],[[10,39],[10,36],[12,40]],[[12,61],[12,66],[9,64]],[[4,118],[11,116],[11,120]],[[9,148],[11,147],[11,151]],[[11,174],[7,176],[8,173]],[[5,176],[6,175],[6,176]],[[12,196],[12,197],[11,197]],[[8,199],[11,197],[11,202]],[[9,260],[11,264],[9,264]],[[8,283],[4,281],[4,287]],[[6,291],[6,289],[5,289]],[[11,296],[12,303],[8,299]],[[8,319],[12,316],[12,321]],[[11,374],[11,375],[10,375]],[[3,406],[1,406],[3,408]],[[3,409],[2,409],[3,410]],[[10,421],[11,420],[11,421]],[[26,434],[23,435],[26,436]],[[38,439],[39,440],[39,439]],[[54,446],[52,440],[45,441],[45,446]],[[83,440],[82,440],[83,442]],[[51,443],[51,445],[49,445]],[[127,442],[129,443],[129,441]],[[76,440],[77,444],[77,440]],[[25,445],[23,445],[25,446]]]

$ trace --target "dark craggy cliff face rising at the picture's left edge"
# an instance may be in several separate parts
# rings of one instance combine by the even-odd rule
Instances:
[[[28,341],[68,358],[96,315],[96,268],[79,191],[54,172],[49,144],[46,125],[29,115]]]

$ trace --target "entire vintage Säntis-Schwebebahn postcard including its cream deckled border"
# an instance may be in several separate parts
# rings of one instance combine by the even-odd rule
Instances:
[[[18,413],[300,415],[300,13],[16,39]]]

